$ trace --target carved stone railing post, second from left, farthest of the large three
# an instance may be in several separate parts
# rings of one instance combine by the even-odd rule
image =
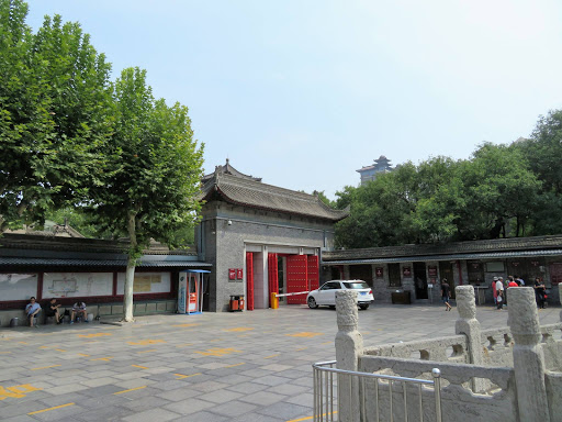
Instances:
[[[469,349],[469,364],[483,365],[482,358],[482,343],[480,335],[480,322],[476,320],[476,299],[474,297],[473,286],[458,286],[454,289],[457,297],[457,310],[459,311],[459,319],[454,324],[454,332],[457,334],[464,334]],[[472,390],[474,392],[482,392],[487,389],[487,382],[482,378],[472,379]]]

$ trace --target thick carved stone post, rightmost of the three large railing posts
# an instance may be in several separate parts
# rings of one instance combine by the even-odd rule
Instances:
[[[549,422],[544,355],[532,287],[509,290],[508,324],[514,337],[514,369],[519,420]]]

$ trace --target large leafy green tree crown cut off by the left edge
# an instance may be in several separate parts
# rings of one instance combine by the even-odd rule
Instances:
[[[77,23],[0,0],[0,231],[42,221],[99,184],[112,132],[110,65]]]

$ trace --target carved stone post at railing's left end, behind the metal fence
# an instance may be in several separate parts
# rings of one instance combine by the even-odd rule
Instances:
[[[338,369],[357,370],[363,353],[363,337],[357,331],[357,291],[338,291],[336,295],[338,333],[336,334],[336,360]],[[338,420],[360,420],[359,380],[346,375],[338,376]]]

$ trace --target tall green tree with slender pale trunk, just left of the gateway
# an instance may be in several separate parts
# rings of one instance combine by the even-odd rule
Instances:
[[[203,176],[203,145],[193,138],[188,108],[155,100],[146,71],[128,68],[115,81],[116,125],[105,151],[110,171],[90,190],[100,227],[130,238],[124,321],[133,321],[136,260],[150,238],[173,244],[194,223]]]

